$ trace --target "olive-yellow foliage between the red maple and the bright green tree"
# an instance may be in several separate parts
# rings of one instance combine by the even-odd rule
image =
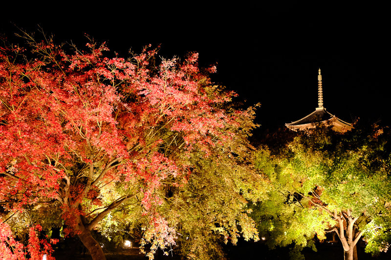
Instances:
[[[177,227],[179,250],[188,259],[222,259],[221,242],[259,239],[247,204],[266,198],[265,181],[255,173],[253,151],[238,142],[232,145],[237,154],[216,146],[207,158],[201,153],[187,158],[195,167],[166,200],[162,214]]]

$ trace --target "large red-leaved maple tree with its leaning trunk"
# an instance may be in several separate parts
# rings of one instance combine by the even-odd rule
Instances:
[[[238,129],[254,127],[252,109],[224,109],[236,94],[212,84],[216,68],[201,71],[196,53],[155,65],[150,47],[125,60],[105,57],[105,44],[68,54],[51,40],[29,40],[30,51],[0,49],[4,209],[56,205],[92,258],[105,259],[91,230],[136,201],[159,245],[174,243],[175,229],[158,211],[166,199],[159,191],[186,183],[194,151],[231,153]],[[1,254],[26,257],[0,225]],[[32,259],[50,253],[44,241],[33,242]]]

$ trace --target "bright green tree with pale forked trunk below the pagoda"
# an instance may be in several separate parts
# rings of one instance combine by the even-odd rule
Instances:
[[[335,232],[345,259],[386,251],[391,228],[390,134],[374,126],[346,134],[327,128],[304,132],[277,154],[261,149],[258,167],[269,177],[269,200],[259,203],[260,229],[270,246],[313,246]]]

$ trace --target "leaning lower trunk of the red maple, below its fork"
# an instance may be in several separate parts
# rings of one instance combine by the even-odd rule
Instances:
[[[88,249],[93,260],[106,260],[105,253],[99,243],[92,237],[91,231],[89,231],[80,217],[78,217],[76,229],[80,232],[78,234],[80,240]]]

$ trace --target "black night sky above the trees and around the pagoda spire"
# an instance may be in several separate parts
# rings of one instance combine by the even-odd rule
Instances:
[[[12,41],[18,29],[11,22],[28,32],[40,24],[57,42],[80,46],[87,33],[125,57],[130,47],[138,52],[149,43],[161,43],[166,58],[198,52],[201,65],[217,65],[215,82],[235,90],[247,105],[261,103],[262,130],[315,110],[320,67],[327,111],[348,122],[360,118],[391,125],[384,6],[181,3],[67,4],[50,12],[33,4],[14,6],[3,12],[0,32]]]

